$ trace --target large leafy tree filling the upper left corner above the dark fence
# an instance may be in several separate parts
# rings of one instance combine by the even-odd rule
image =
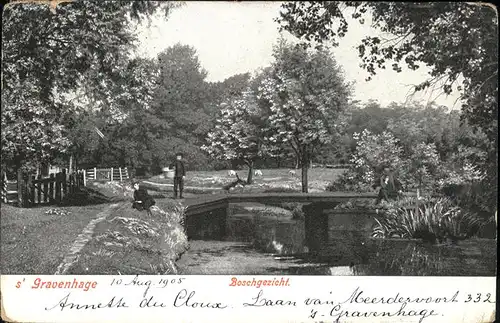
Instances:
[[[53,152],[66,151],[64,121],[73,111],[70,104],[59,102],[61,94],[81,84],[92,91],[100,88],[133,48],[136,35],[130,27],[158,10],[168,14],[175,6],[73,1],[59,4],[56,12],[46,4],[7,6],[2,30],[2,147],[10,148],[2,163],[35,167],[27,161],[50,160]],[[87,78],[92,69],[99,73]],[[33,91],[20,99],[21,89]],[[37,116],[33,118],[37,121],[25,127],[29,115]]]

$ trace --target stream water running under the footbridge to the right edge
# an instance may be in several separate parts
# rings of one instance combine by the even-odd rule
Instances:
[[[309,252],[303,219],[262,204],[230,206],[222,237],[190,237],[177,262],[186,275],[495,276],[496,240],[457,245],[366,238],[339,231]]]

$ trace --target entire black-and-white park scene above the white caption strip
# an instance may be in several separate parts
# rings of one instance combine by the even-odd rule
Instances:
[[[2,275],[497,271],[498,16],[13,1]]]

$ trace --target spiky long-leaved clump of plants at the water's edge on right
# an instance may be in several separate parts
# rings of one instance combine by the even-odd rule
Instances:
[[[471,237],[485,221],[463,211],[449,199],[441,198],[416,208],[389,209],[376,218],[373,236],[378,238],[414,238],[430,242],[452,241]]]

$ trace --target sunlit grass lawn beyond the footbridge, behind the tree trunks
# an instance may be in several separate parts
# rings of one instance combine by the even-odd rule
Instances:
[[[271,191],[300,191],[301,190],[301,170],[294,170],[295,176],[289,174],[288,168],[261,169],[262,176],[254,176],[254,183],[247,185],[245,192],[271,192]],[[311,168],[308,171],[310,192],[325,191],[325,187],[335,180],[344,169],[331,168]],[[238,176],[246,180],[248,170],[237,171]],[[186,191],[192,188],[222,188],[222,186],[236,180],[236,177],[229,176],[227,170],[223,171],[192,171],[187,172],[184,186]],[[159,184],[173,184],[173,179],[164,178],[162,175],[153,176],[147,181]]]

